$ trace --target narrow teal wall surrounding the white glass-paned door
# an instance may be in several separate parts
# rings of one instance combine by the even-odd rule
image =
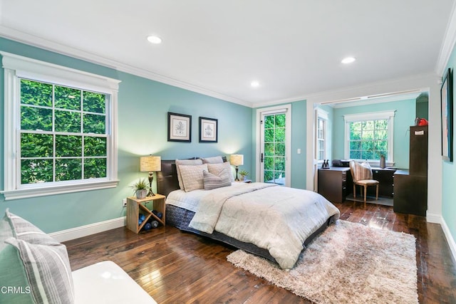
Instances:
[[[291,105],[291,187],[306,189],[307,103],[306,100],[299,100],[281,105]],[[274,105],[274,107],[275,106],[276,105]],[[256,108],[252,113],[252,138],[256,138],[257,136],[257,110],[261,108],[268,107]],[[253,149],[252,159],[256,159],[255,147]],[[298,149],[301,149],[301,154],[298,154]],[[257,168],[254,167],[254,170],[252,171],[252,179],[254,180],[256,179],[256,169]]]

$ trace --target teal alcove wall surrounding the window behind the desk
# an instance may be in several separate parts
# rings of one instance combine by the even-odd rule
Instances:
[[[344,159],[345,122],[343,115],[363,112],[380,112],[395,110],[394,117],[394,162],[395,167],[408,169],[410,125],[415,124],[415,100],[399,100],[372,105],[357,105],[346,108],[335,108],[333,112],[333,159]]]

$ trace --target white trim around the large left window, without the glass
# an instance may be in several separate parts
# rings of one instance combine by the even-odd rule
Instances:
[[[4,68],[4,194],[5,200],[24,199],[28,197],[46,196],[94,189],[113,188],[118,184],[117,163],[117,99],[120,80],[107,78],[73,68],[66,68],[53,63],[18,56],[0,51]],[[108,140],[108,177],[106,179],[90,179],[81,182],[53,184],[43,187],[18,188],[16,149],[16,132],[19,132],[20,111],[19,92],[20,78],[31,78],[58,85],[73,86],[84,90],[94,90],[110,95],[110,140]]]

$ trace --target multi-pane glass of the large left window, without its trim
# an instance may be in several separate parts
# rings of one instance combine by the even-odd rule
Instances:
[[[107,177],[108,96],[20,81],[21,185]]]

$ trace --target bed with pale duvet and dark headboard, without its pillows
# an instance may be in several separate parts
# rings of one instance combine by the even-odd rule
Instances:
[[[167,196],[167,225],[257,254],[281,268],[292,268],[306,245],[340,215],[315,192],[242,182],[185,192],[177,174],[174,160],[162,160],[157,192]]]

